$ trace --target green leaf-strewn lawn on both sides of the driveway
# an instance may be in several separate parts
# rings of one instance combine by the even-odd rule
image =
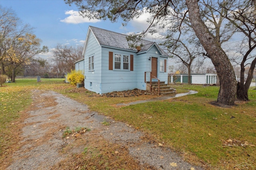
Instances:
[[[32,100],[30,90],[47,89],[68,95],[87,104],[91,110],[124,121],[151,134],[158,143],[180,152],[184,159],[210,169],[234,169],[242,162],[256,168],[256,90],[249,90],[249,102],[218,107],[210,104],[218,94],[218,86],[171,84],[177,92],[196,90],[198,94],[148,102],[131,106],[119,103],[144,100],[152,96],[107,98],[92,92],[71,92],[63,80],[42,81],[17,79],[0,87],[0,145],[12,145],[8,125],[18,119]],[[1,157],[1,159],[3,159]],[[252,167],[253,166],[253,167]],[[236,168],[241,166],[236,166]]]

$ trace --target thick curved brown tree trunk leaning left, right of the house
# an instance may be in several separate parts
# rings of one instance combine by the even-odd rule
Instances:
[[[192,28],[212,60],[220,79],[220,90],[217,102],[226,105],[234,105],[237,86],[236,76],[228,56],[220,47],[220,43],[214,39],[214,36],[201,20],[198,0],[186,0],[186,5],[188,6]]]

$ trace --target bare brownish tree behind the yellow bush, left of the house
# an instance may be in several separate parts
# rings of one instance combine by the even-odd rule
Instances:
[[[52,56],[52,61],[56,65],[55,72],[64,76],[64,74],[74,70],[74,62],[82,58],[82,53],[82,46],[72,47],[60,44],[56,45]]]

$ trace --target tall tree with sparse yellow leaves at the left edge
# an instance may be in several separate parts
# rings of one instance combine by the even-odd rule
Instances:
[[[40,48],[41,40],[32,33],[30,25],[23,25],[12,9],[0,6],[0,64],[1,74],[7,74],[12,82],[30,61],[48,47]]]

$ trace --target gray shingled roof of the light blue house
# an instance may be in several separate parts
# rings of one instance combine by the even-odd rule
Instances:
[[[97,27],[89,27],[92,30],[98,42],[100,43],[100,45],[137,51],[135,48],[129,47],[128,41],[126,39],[127,35],[116,33],[113,31],[108,31],[106,29],[100,29]],[[147,51],[154,44],[154,42],[142,40],[142,44],[143,46],[141,47],[140,52]],[[162,50],[160,47],[158,48],[160,49],[162,55],[168,56],[168,54],[164,50]]]

